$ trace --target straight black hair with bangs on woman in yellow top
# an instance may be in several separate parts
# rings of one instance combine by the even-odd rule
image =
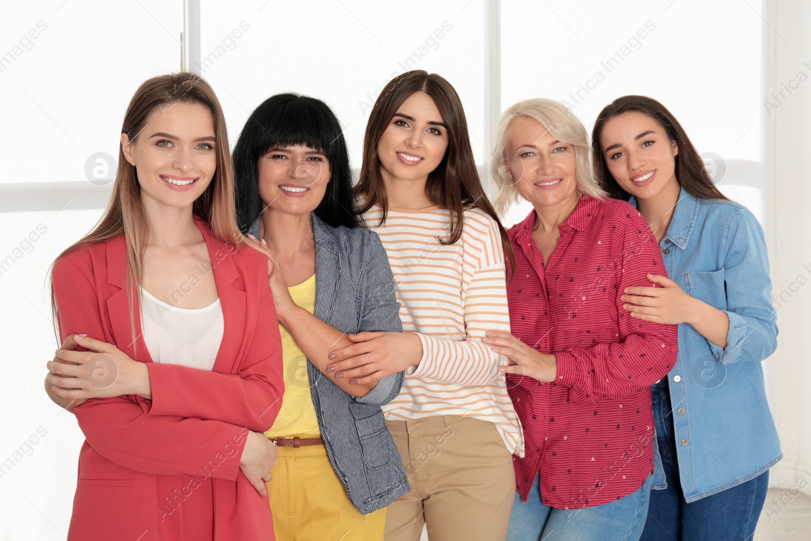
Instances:
[[[357,227],[352,171],[341,122],[329,106],[314,97],[294,93],[269,97],[245,122],[234,146],[234,190],[237,221],[247,234],[264,210],[259,195],[259,161],[271,148],[303,144],[329,161],[332,178],[315,215],[333,227]]]

